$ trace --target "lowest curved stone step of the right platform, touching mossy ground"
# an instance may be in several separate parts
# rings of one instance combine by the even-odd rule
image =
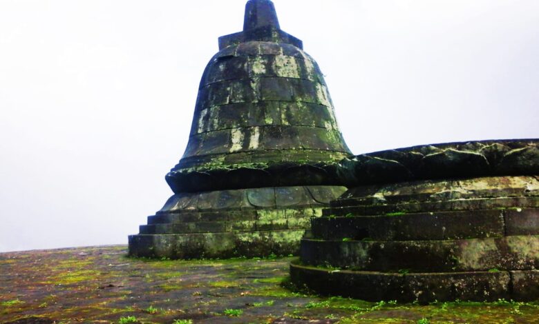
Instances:
[[[292,282],[320,294],[366,301],[535,301],[539,271],[442,272],[398,274],[335,270],[292,262]]]

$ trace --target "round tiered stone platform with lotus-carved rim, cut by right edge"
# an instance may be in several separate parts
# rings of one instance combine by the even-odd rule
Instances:
[[[312,220],[292,280],[373,301],[539,298],[537,142],[426,145],[345,161],[357,181]]]

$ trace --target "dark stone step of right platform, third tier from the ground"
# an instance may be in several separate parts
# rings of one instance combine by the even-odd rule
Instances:
[[[322,240],[422,241],[538,234],[539,208],[312,219],[312,237]]]

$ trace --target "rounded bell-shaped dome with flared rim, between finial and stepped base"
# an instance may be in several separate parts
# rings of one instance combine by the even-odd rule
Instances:
[[[283,185],[276,172],[325,167],[350,155],[314,59],[292,43],[245,41],[209,61],[187,149],[167,182],[175,192]],[[250,180],[223,181],[223,172],[239,169]],[[334,184],[333,174],[320,173],[292,182],[288,174],[284,184]],[[219,179],[202,180],[214,174]]]

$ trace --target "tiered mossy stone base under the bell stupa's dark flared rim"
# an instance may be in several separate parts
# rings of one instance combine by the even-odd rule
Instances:
[[[299,253],[312,217],[344,187],[306,186],[176,194],[129,236],[133,256],[229,258]]]

